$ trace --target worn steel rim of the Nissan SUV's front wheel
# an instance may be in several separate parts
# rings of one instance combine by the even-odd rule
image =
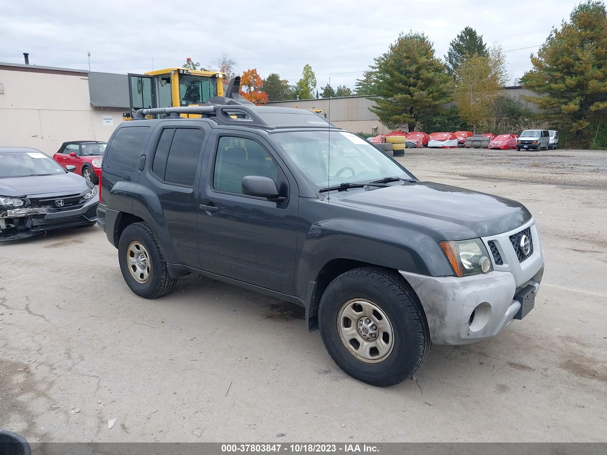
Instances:
[[[342,305],[337,312],[337,333],[347,351],[361,362],[383,362],[394,349],[390,318],[366,298],[353,298]]]

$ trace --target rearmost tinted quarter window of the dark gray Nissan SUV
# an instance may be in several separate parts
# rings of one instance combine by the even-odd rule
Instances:
[[[107,147],[103,167],[135,172],[139,157],[146,148],[149,126],[123,127],[118,129]]]

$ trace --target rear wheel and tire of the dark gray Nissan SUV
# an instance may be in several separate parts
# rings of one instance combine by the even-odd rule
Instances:
[[[146,272],[139,273],[143,270],[138,268],[139,263],[135,265],[127,262],[127,252],[131,249],[132,251],[139,251],[146,258],[144,264],[148,266],[145,269],[147,274],[144,274]],[[132,257],[136,258],[137,256]],[[161,295],[171,292],[175,283],[177,283],[177,279],[171,278],[171,275],[169,275],[160,246],[158,246],[152,229],[146,223],[129,224],[124,228],[122,235],[120,235],[120,241],[118,241],[118,262],[124,281],[131,288],[131,291],[140,297],[161,297]],[[129,268],[133,266],[137,268],[137,271],[132,273]],[[135,278],[135,274],[140,280]]]

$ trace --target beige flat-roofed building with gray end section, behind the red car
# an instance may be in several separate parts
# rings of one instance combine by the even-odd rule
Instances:
[[[0,146],[107,141],[128,105],[126,75],[0,62]]]

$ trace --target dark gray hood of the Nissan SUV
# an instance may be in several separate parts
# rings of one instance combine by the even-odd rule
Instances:
[[[443,240],[500,234],[531,219],[517,201],[427,181],[341,195],[339,204],[402,218],[437,232]]]

